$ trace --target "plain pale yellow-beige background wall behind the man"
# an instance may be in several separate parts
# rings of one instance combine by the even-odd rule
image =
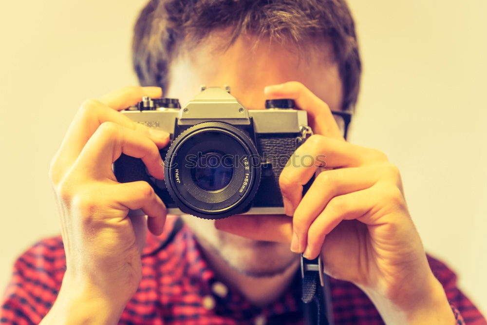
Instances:
[[[145,0],[2,1],[0,290],[59,232],[49,162],[78,105],[126,84]],[[487,1],[351,0],[364,61],[351,142],[399,166],[426,249],[487,311]]]

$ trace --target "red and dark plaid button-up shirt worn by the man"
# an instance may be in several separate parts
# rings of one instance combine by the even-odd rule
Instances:
[[[142,257],[142,281],[119,324],[303,324],[298,276],[290,289],[270,306],[252,306],[237,290],[217,280],[186,226],[161,247],[174,221],[168,219],[160,237],[148,235]],[[428,261],[445,287],[457,324],[487,324],[456,287],[455,274],[431,257]],[[38,324],[56,300],[65,269],[61,237],[42,240],[23,253],[15,263],[3,298],[0,324]],[[355,285],[330,279],[330,288],[336,324],[384,324],[375,306]]]

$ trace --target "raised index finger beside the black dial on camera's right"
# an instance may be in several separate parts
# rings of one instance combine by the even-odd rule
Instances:
[[[337,122],[328,105],[298,81],[289,81],[280,85],[264,88],[268,99],[294,99],[298,108],[308,112],[309,125],[314,134],[344,140]]]

